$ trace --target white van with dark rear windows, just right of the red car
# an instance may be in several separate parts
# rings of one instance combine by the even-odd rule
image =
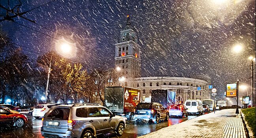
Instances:
[[[203,104],[200,100],[186,100],[185,104],[188,114],[203,114]]]

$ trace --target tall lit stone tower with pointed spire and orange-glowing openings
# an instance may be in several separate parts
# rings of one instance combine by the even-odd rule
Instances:
[[[120,31],[120,37],[115,44],[115,67],[121,68],[125,79],[141,76],[141,46],[132,29],[130,15],[127,15],[126,26]]]

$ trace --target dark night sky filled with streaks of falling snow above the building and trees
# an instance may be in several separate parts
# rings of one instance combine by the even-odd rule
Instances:
[[[18,3],[10,1],[10,7]],[[22,0],[20,10],[49,1]],[[57,39],[64,35],[75,43],[71,60],[88,68],[109,69],[114,67],[114,44],[130,14],[142,47],[142,76],[208,75],[213,87],[224,94],[228,82],[239,79],[250,85],[248,56],[255,57],[256,23],[255,0],[220,1],[56,0],[24,15],[53,32],[22,18],[14,19],[51,37],[11,21],[2,21],[1,30],[8,32],[13,42],[30,47],[22,48],[31,60],[35,61],[38,53],[54,50]],[[7,7],[7,3],[1,0],[1,5]],[[1,15],[5,14],[1,8]],[[232,51],[237,44],[243,45],[239,54]]]

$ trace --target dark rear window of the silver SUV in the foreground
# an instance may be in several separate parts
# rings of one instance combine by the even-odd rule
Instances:
[[[69,112],[69,108],[53,108],[50,112],[47,112],[45,118],[68,120]]]

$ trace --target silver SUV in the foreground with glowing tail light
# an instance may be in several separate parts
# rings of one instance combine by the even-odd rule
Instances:
[[[47,138],[93,138],[115,131],[124,132],[125,119],[100,104],[53,106],[43,117],[41,134]]]

